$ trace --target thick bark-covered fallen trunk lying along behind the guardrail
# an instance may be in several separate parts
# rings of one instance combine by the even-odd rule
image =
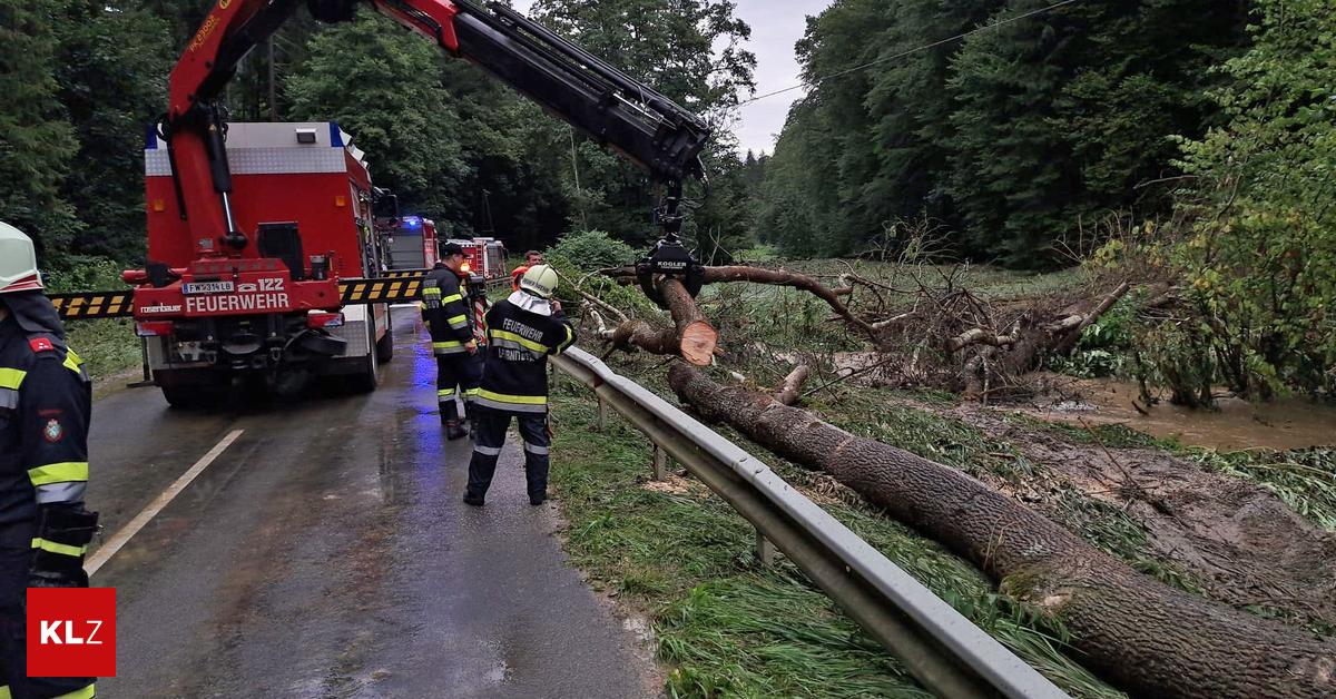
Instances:
[[[673,390],[979,565],[1071,632],[1082,663],[1146,696],[1332,696],[1336,644],[1209,603],[1136,572],[949,466],[855,437],[772,397],[675,365]]]

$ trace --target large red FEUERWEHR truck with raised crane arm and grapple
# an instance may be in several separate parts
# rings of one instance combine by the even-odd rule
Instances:
[[[418,297],[421,275],[389,269],[391,251],[374,226],[377,190],[347,134],[331,123],[226,119],[222,99],[238,63],[299,4],[216,1],[171,72],[167,112],[148,139],[148,262],[124,274],[130,298],[53,298],[67,318],[131,311],[174,405],[247,380],[287,393],[347,374],[374,390],[377,361],[393,346],[385,305]],[[306,0],[327,23],[350,21],[359,4],[643,166],[663,191],[663,239],[637,263],[641,285],[673,275],[699,290],[679,200],[683,180],[703,176],[704,120],[505,4]],[[477,245],[473,263],[504,266],[492,242]],[[424,266],[430,254],[424,247]]]

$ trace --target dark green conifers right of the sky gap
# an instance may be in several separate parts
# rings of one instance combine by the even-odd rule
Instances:
[[[1176,174],[1170,135],[1209,126],[1202,88],[1244,43],[1244,5],[1089,0],[1018,19],[1049,5],[836,0],[811,19],[798,48],[814,88],[780,135],[758,234],[855,254],[927,215],[962,253],[1035,267],[1092,217],[1168,207],[1138,186]]]

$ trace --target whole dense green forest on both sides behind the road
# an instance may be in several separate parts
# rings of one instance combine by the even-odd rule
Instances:
[[[64,286],[143,257],[142,144],[206,9],[0,0],[0,219],[33,234]],[[705,262],[760,245],[1121,267],[1184,290],[1149,345],[1185,402],[1213,381],[1255,397],[1336,386],[1329,3],[838,0],[807,20],[807,90],[770,154],[739,152],[729,131],[740,103],[766,99],[733,3],[533,13],[715,124],[708,184],[688,191]],[[289,23],[227,106],[339,122],[377,183],[450,235],[655,237],[639,170],[370,11]]]

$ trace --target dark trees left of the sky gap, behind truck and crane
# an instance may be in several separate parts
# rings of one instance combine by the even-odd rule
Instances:
[[[561,31],[711,120],[723,123],[751,86],[748,29],[729,1],[542,5]],[[0,217],[37,238],[44,266],[142,255],[144,132],[208,11],[195,0],[0,0]],[[333,27],[299,11],[275,35],[273,57],[269,44],[257,47],[220,99],[232,120],[339,122],[369,154],[377,184],[446,235],[521,249],[585,222],[637,247],[656,235],[655,192],[640,170],[365,9]],[[685,233],[713,259],[751,234],[739,213],[759,167],[732,150],[724,134],[707,154],[713,186],[689,192],[696,215]]]

